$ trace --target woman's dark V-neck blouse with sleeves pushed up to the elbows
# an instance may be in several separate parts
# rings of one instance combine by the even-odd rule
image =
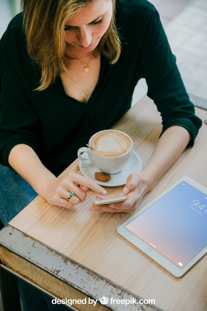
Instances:
[[[97,85],[87,104],[65,93],[61,78],[43,91],[40,69],[28,57],[22,13],[0,41],[0,162],[16,144],[31,146],[42,162],[59,173],[89,137],[110,128],[130,108],[134,88],[145,78],[148,96],[162,115],[163,131],[186,128],[192,146],[202,121],[186,93],[159,14],[146,0],[118,0],[117,27],[122,53],[115,65],[101,56]]]

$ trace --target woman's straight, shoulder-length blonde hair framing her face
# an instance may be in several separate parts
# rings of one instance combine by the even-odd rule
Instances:
[[[37,90],[44,90],[63,72],[68,72],[64,21],[93,0],[22,0],[23,25],[29,56],[40,66],[42,76]],[[115,0],[109,28],[99,42],[100,52],[114,64],[121,53],[115,23]]]

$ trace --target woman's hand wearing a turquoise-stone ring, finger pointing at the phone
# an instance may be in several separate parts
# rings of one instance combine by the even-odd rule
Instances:
[[[93,180],[75,172],[68,172],[61,177],[54,176],[48,180],[41,191],[41,196],[50,204],[71,208],[85,200],[89,189],[100,195],[107,194],[107,191]]]

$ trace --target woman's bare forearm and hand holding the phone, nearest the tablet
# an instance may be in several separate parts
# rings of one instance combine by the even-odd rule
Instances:
[[[143,196],[152,190],[162,175],[174,164],[187,147],[191,137],[181,126],[169,127],[160,137],[157,146],[144,169],[139,173],[132,173],[127,179],[123,193],[127,200],[110,205],[90,207],[90,210],[108,212],[134,212]],[[98,195],[97,199],[103,199]],[[136,204],[135,204],[136,203]]]

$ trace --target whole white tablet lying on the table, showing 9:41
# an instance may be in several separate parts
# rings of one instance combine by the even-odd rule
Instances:
[[[117,232],[181,277],[207,253],[207,188],[184,176]]]

